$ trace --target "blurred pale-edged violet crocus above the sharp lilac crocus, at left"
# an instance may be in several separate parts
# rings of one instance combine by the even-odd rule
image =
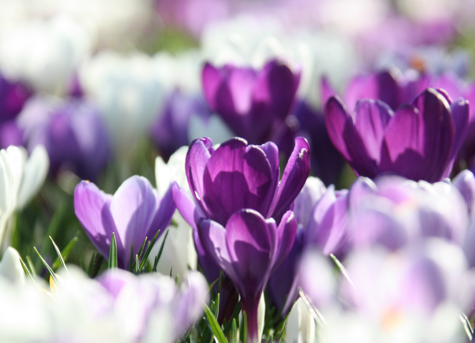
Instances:
[[[109,158],[109,141],[99,112],[81,99],[32,99],[18,123],[28,150],[45,146],[53,175],[68,169],[83,179],[95,180]]]

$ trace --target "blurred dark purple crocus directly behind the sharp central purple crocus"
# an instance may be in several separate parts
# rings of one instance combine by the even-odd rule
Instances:
[[[272,60],[261,70],[207,63],[202,72],[203,92],[239,137],[252,144],[278,143],[288,129],[288,116],[300,82],[300,72]]]

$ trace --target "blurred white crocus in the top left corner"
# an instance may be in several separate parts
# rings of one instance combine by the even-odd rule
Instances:
[[[29,20],[0,31],[0,67],[37,91],[64,94],[90,46],[85,29],[70,17]]]

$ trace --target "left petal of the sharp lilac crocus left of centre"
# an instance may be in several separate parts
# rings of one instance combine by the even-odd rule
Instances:
[[[109,258],[112,232],[116,232],[110,213],[112,195],[105,194],[89,181],[81,181],[74,190],[74,212],[97,250]],[[115,237],[120,241],[120,237]]]

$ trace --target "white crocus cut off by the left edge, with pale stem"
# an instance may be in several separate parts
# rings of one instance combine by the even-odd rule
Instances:
[[[0,242],[6,248],[10,234],[7,223],[16,210],[21,210],[45,182],[49,169],[46,149],[38,146],[30,158],[23,147],[0,150]]]

